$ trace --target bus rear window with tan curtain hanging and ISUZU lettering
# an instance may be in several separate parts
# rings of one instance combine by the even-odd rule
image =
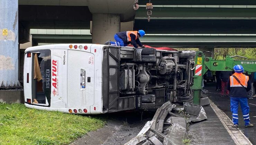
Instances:
[[[32,53],[32,101],[33,104],[51,104],[51,50]]]

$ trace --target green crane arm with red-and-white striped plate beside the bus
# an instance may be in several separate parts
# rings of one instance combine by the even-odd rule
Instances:
[[[229,56],[226,56],[226,60],[213,60],[211,57],[205,57],[202,51],[196,52],[194,83],[191,87],[194,90],[193,103],[200,105],[203,75],[208,70],[233,71],[235,65],[242,65],[248,74],[256,72],[256,60],[235,60]]]

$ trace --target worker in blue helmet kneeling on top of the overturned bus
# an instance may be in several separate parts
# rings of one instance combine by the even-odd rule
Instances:
[[[145,31],[143,30],[118,32],[114,36],[116,42],[108,40],[104,45],[127,46],[131,43],[135,48],[138,48],[137,44],[145,48],[139,41],[139,37],[143,37],[144,35]]]

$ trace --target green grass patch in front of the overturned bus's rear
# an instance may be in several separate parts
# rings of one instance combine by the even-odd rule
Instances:
[[[104,126],[100,118],[0,103],[0,145],[68,144]]]

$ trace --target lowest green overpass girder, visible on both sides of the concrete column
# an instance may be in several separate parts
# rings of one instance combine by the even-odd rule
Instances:
[[[33,34],[38,43],[91,43],[91,35],[42,35]],[[147,35],[140,38],[143,44],[169,47],[256,47],[256,34],[251,36],[179,36]],[[107,40],[106,40],[107,41]]]

